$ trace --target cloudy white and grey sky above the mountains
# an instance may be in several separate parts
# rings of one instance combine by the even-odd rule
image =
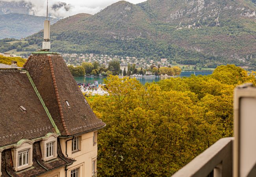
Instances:
[[[118,0],[50,0],[48,2],[48,12],[51,17],[64,18],[78,13],[95,14],[105,7],[117,2]],[[145,0],[128,0],[134,4]],[[26,14],[36,16],[46,16],[47,0],[4,0],[0,2],[2,13],[13,13],[13,7],[23,7]],[[8,9],[11,8],[13,10]]]

